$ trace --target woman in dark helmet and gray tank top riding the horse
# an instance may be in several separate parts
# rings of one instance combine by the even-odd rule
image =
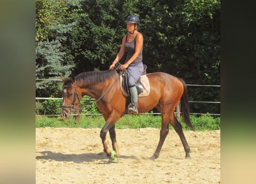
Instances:
[[[120,69],[128,71],[128,87],[132,97],[132,103],[128,106],[128,114],[138,113],[137,110],[137,89],[135,83],[140,78],[143,72],[142,52],[143,52],[143,35],[137,31],[140,24],[139,17],[135,15],[128,16],[125,20],[127,23],[128,33],[124,35],[121,48],[117,53],[116,59],[109,66],[113,69],[114,65],[119,62],[127,52],[125,63],[121,65]]]

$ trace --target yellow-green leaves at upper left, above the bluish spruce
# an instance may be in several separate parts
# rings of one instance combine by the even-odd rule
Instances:
[[[56,38],[79,17],[79,1],[36,0],[36,42]]]

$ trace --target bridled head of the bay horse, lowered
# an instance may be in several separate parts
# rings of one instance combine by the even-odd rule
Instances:
[[[81,99],[81,94],[77,89],[77,82],[75,81],[74,76],[71,76],[71,79],[64,79],[63,76],[60,77],[64,82],[62,87],[62,118],[66,120],[70,118],[71,112],[75,110],[79,111],[79,101]]]

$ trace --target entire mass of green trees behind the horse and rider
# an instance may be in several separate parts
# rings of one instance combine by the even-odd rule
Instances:
[[[127,33],[124,20],[129,14],[136,14],[141,20],[143,62],[148,73],[167,72],[187,84],[220,85],[220,0],[36,0],[37,47],[39,43],[50,47],[47,39],[53,44],[44,55],[37,54],[36,66],[46,63],[46,56],[52,60],[58,57],[60,66],[70,68],[56,70],[56,78],[60,73],[68,76],[71,72],[77,75],[108,70]],[[57,41],[58,47],[54,45]],[[37,76],[54,77],[43,70],[40,72],[45,76],[40,72]],[[43,83],[37,84],[41,86],[36,90],[37,96],[60,97],[59,86]],[[220,101],[218,87],[188,90],[190,101]],[[190,109],[197,113],[220,113],[220,105],[216,104],[191,104]]]

